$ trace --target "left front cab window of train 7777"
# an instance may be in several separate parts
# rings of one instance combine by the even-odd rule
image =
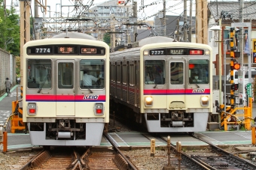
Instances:
[[[165,67],[163,60],[145,61],[145,85],[164,85],[165,84]]]

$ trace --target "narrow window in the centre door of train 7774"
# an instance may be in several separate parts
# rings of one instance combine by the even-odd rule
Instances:
[[[58,88],[73,88],[74,64],[61,62],[58,64]]]

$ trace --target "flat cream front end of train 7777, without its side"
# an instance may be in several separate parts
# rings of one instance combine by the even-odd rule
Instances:
[[[148,132],[206,131],[212,112],[212,49],[157,43],[141,49],[140,101]]]

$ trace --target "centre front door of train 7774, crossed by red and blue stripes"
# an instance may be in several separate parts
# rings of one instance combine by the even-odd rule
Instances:
[[[75,60],[57,60],[56,115],[75,115]]]

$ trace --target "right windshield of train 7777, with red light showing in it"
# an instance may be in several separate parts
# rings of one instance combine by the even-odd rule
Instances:
[[[209,60],[189,61],[189,82],[190,84],[209,83]]]

